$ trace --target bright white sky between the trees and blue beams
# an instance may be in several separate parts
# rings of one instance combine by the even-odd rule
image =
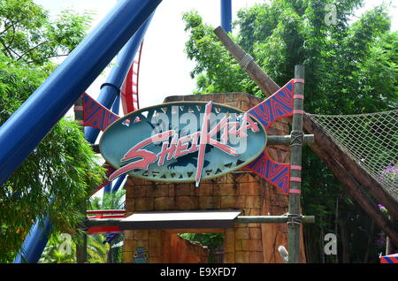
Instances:
[[[34,0],[50,11],[51,15],[65,9],[74,11],[94,11],[95,19],[92,27],[103,19],[117,0]],[[233,20],[236,12],[244,7],[264,0],[233,0]],[[364,10],[381,3],[378,0],[367,0]],[[182,14],[196,10],[202,15],[204,22],[213,27],[220,25],[219,0],[163,0],[157,7],[152,22],[145,35],[142,50],[142,64],[140,71],[139,95],[141,107],[163,103],[168,95],[189,95],[195,89],[195,80],[191,80],[189,72],[195,63],[188,60],[184,53],[188,34],[184,32]],[[390,11],[393,18],[393,30],[398,27],[398,9]],[[109,68],[107,68],[109,72]],[[99,88],[106,79],[106,73],[88,88],[88,94],[96,98]]]

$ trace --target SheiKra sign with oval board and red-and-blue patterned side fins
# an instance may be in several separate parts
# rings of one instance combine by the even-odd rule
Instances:
[[[288,163],[266,153],[265,133],[279,118],[302,114],[293,110],[295,83],[287,82],[247,112],[217,103],[164,103],[123,118],[83,95],[83,125],[103,132],[100,150],[115,171],[110,180],[128,173],[165,182],[195,182],[244,168],[289,193]],[[296,169],[296,167],[293,167]],[[108,181],[109,182],[109,181]]]

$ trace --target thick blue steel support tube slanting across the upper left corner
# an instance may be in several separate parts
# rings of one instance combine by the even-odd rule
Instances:
[[[161,0],[123,0],[0,127],[0,186],[103,71]]]

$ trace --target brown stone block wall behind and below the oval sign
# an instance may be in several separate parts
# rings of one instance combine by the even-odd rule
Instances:
[[[165,103],[179,101],[213,101],[249,110],[261,99],[242,93],[213,95],[170,96]],[[287,119],[280,119],[267,134],[289,133]],[[289,163],[287,146],[267,146],[273,160]],[[244,169],[225,176],[203,180],[196,188],[193,183],[165,184],[129,177],[126,182],[126,216],[135,211],[242,209],[241,216],[279,216],[287,213],[288,196],[264,179]],[[175,262],[172,259],[172,235],[179,232],[222,232],[224,262],[283,262],[278,247],[287,248],[287,224],[234,224],[232,229],[127,231],[125,235],[125,262],[134,262],[137,247],[148,249],[149,262]],[[302,240],[302,239],[301,239]],[[177,243],[177,242],[175,242]],[[191,257],[188,261],[203,262],[203,252],[194,251],[202,260]],[[301,261],[305,262],[302,243]]]

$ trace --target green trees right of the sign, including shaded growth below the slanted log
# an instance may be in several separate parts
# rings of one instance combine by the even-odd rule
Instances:
[[[336,7],[336,20],[325,21],[326,4]],[[387,7],[381,5],[351,22],[363,1],[272,0],[238,12],[233,40],[255,58],[264,72],[279,86],[294,77],[295,65],[306,68],[305,110],[317,114],[356,114],[398,107],[397,48],[398,34],[390,32]],[[188,58],[196,65],[196,94],[246,92],[265,97],[249,76],[203,23],[196,11],[185,13]],[[335,262],[323,254],[323,234],[345,233],[345,248],[339,249],[346,262],[363,262],[366,249],[355,247],[369,232],[358,229],[357,217],[371,225],[371,219],[351,201],[338,178],[310,148],[303,149],[303,213],[317,215],[317,224],[306,226],[304,233],[309,262]],[[336,207],[337,206],[337,207]],[[336,209],[343,220],[336,220]],[[340,224],[339,222],[347,224]],[[343,230],[343,228],[346,228]],[[348,228],[348,229],[347,229]],[[349,248],[347,248],[349,247]],[[375,257],[377,259],[377,257]],[[349,260],[349,261],[348,261]]]

